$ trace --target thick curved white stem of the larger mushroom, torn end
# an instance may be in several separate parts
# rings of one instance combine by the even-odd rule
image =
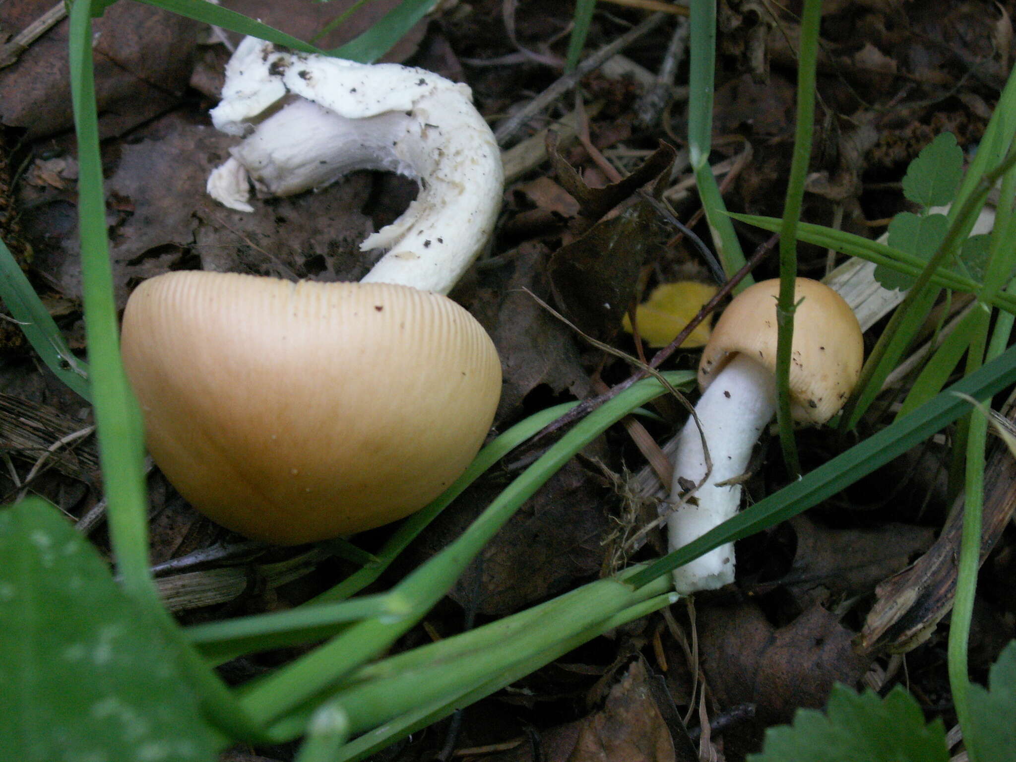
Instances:
[[[420,191],[362,250],[388,249],[364,278],[447,294],[491,235],[501,153],[469,88],[424,69],[280,52],[247,38],[226,70],[218,129],[249,136],[208,178],[220,203],[322,188],[360,169],[409,177]],[[272,112],[275,109],[276,111]]]

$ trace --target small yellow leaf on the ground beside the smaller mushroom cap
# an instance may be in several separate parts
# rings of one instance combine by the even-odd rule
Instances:
[[[649,346],[666,346],[715,294],[715,285],[694,280],[656,287],[649,299],[636,310],[639,335]],[[704,346],[712,330],[711,322],[707,318],[699,323],[681,346],[686,350]],[[632,332],[632,323],[627,315],[622,325],[626,331]]]

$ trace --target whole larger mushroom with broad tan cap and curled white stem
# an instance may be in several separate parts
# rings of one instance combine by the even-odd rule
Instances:
[[[306,98],[212,174],[219,200],[245,205],[248,174],[288,194],[365,167],[417,177],[420,196],[365,242],[391,247],[370,282],[185,271],[138,287],[121,341],[148,449],[196,508],[254,538],[294,545],[394,521],[465,469],[500,397],[493,342],[442,296],[493,228],[497,145],[467,88],[418,69],[248,38],[225,91],[216,124],[238,132]]]

